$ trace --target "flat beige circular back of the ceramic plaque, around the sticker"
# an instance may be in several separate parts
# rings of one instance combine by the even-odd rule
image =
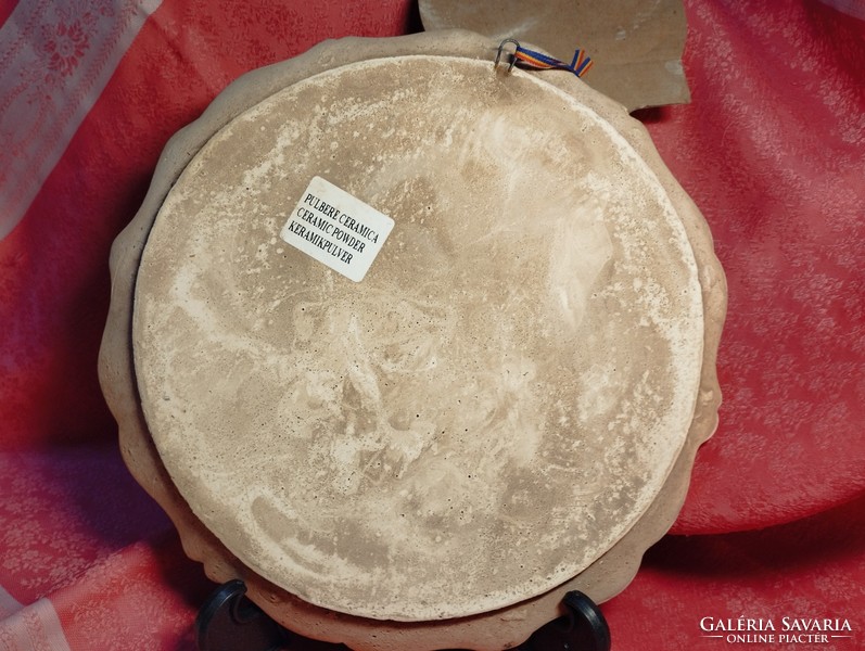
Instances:
[[[396,222],[361,283],[278,237],[313,176]],[[609,549],[684,444],[702,337],[633,148],[537,77],[441,56],[321,74],[216,135],[156,218],[133,330],[205,525],[313,603],[408,621]]]

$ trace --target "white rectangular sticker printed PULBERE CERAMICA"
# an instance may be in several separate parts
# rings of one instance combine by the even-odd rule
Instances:
[[[387,215],[321,177],[313,177],[279,237],[360,282],[393,227]]]

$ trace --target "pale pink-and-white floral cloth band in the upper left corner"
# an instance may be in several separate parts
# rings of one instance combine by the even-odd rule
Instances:
[[[17,224],[160,0],[21,2],[0,31],[0,238]]]

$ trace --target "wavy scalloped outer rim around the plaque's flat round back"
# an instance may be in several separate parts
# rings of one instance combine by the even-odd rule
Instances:
[[[486,58],[491,50],[486,41],[460,34],[447,37],[436,35],[435,43],[431,43],[429,40],[424,41],[422,37],[390,41],[364,41],[362,51],[358,48],[357,41],[330,43],[310,52],[302,60],[291,62],[294,65],[275,66],[244,78],[229,89],[203,116],[202,120],[179,135],[166,150],[164,164],[161,166],[148,202],[136,224],[131,225],[118,240],[113,255],[115,301],[112,305],[112,322],[106,331],[103,346],[102,378],[106,387],[106,397],[122,422],[125,454],[130,468],[142,485],[163,503],[175,522],[178,523],[188,553],[193,558],[203,559],[208,573],[214,578],[224,580],[231,576],[241,576],[250,584],[253,598],[289,626],[315,637],[348,641],[358,649],[398,648],[406,643],[412,648],[441,648],[445,634],[448,636],[447,639],[454,640],[453,646],[471,646],[478,649],[505,648],[508,643],[523,639],[543,621],[555,616],[558,600],[565,589],[574,587],[586,589],[598,600],[615,593],[633,575],[643,549],[657,539],[672,522],[684,496],[684,486],[687,483],[694,449],[711,433],[714,426],[718,399],[714,382],[714,350],[720,334],[720,324],[723,320],[723,276],[721,276],[711,254],[711,241],[708,238],[704,224],[701,222],[699,214],[677,188],[675,181],[660,166],[657,154],[645,139],[641,127],[627,120],[626,116],[616,112],[611,103],[594,93],[586,93],[582,85],[568,79],[563,85],[569,91],[575,91],[576,94],[582,93],[581,99],[588,105],[599,106],[608,113],[615,128],[625,132],[632,142],[636,142],[641,156],[650,162],[651,167],[659,175],[659,179],[685,218],[689,237],[696,244],[698,259],[701,254],[703,256],[701,264],[703,294],[705,297],[714,297],[705,303],[705,308],[709,310],[707,346],[704,348],[707,363],[703,365],[702,370],[705,391],[701,393],[700,408],[698,409],[698,417],[700,414],[702,417],[698,418],[691,426],[687,454],[679,457],[679,467],[676,468],[674,476],[664,486],[663,499],[659,499],[652,505],[651,519],[640,520],[628,536],[586,572],[538,599],[524,602],[514,609],[487,613],[479,617],[397,625],[328,614],[327,611],[319,611],[315,607],[269,586],[260,577],[251,574],[231,554],[227,554],[213,536],[191,515],[188,507],[167,480],[149,442],[141,413],[137,407],[136,387],[131,383],[128,334],[129,302],[137,259],[155,208],[162,202],[171,180],[179,174],[191,153],[213,133],[216,127],[225,124],[227,118],[237,115],[239,108],[254,103],[256,95],[259,99],[267,97],[281,86],[287,86],[292,80],[301,78],[304,73],[309,74],[322,69],[335,60],[341,59],[342,62],[346,62],[353,58],[362,58],[364,54],[371,56],[404,54],[424,49],[433,51],[436,48],[441,48],[443,52],[462,50],[466,55],[482,58]]]

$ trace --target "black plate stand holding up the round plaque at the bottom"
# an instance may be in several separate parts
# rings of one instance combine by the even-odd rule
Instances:
[[[199,651],[345,651],[344,644],[307,640],[293,634],[246,599],[242,580],[222,584],[205,601],[195,620]],[[610,628],[591,599],[568,592],[567,615],[532,634],[514,651],[609,651]],[[451,649],[449,651],[459,651]]]

